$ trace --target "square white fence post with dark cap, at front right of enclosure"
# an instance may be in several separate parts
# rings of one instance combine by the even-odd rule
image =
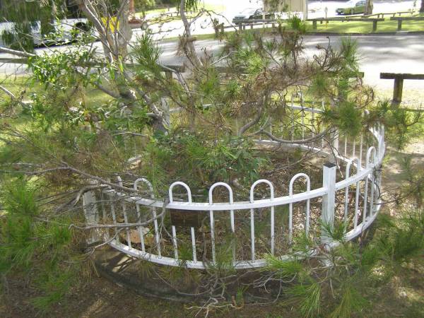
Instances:
[[[333,228],[334,207],[336,203],[336,165],[326,163],[322,170],[322,186],[326,189],[326,194],[322,196],[322,224]],[[321,242],[326,244],[331,241],[324,226],[322,228]]]

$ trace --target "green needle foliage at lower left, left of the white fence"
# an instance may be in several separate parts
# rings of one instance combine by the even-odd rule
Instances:
[[[59,302],[76,281],[79,266],[71,259],[73,235],[69,220],[40,220],[35,182],[9,179],[2,191],[0,272],[28,275],[40,293],[31,300],[40,310]]]

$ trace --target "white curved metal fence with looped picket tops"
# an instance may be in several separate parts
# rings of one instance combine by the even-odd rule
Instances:
[[[333,228],[343,226],[344,240],[361,235],[381,206],[384,126],[377,124],[355,138],[333,130],[321,139],[296,143],[320,136],[314,120],[323,105],[306,107],[301,98],[300,105],[292,102],[289,107],[291,126],[269,122],[266,129],[293,143],[271,138],[256,142],[260,147],[295,147],[333,158],[322,165],[321,187],[311,175],[298,173],[287,180],[288,193],[275,196],[274,184],[259,179],[250,187],[247,201],[235,201],[230,184],[218,182],[203,196],[208,199],[197,201],[192,194],[198,192],[189,184],[174,182],[168,189],[169,200],[163,200],[155,198],[151,182],[136,179],[136,193],[102,189],[85,196],[85,211],[95,214],[90,223],[137,225],[98,232],[100,240],[155,264],[192,269],[225,264],[248,269],[265,266],[266,254],[284,258],[299,237],[331,248],[338,244],[329,233]],[[291,136],[283,136],[283,131]]]

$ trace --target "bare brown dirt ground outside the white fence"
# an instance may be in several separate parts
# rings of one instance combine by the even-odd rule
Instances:
[[[412,155],[416,169],[424,169],[424,138],[417,136],[403,152],[387,151],[384,164],[384,184],[387,189],[404,183],[400,161]],[[387,213],[388,209],[384,209]],[[39,312],[31,305],[30,299],[37,296],[35,288],[22,276],[8,278],[0,293],[0,317],[195,317],[197,310],[192,304],[146,298],[127,290],[93,273],[74,288],[49,312]],[[375,288],[374,298],[360,317],[424,317],[424,255],[413,263],[404,264],[387,285]],[[204,312],[197,317],[204,317]],[[300,317],[290,305],[276,302],[272,305],[242,305],[237,309],[224,308],[211,312],[208,317]],[[324,316],[323,316],[324,317]],[[359,317],[359,316],[358,316]]]

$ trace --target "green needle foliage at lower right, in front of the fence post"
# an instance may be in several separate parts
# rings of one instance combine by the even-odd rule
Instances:
[[[423,255],[424,211],[404,215],[399,219],[380,215],[367,245],[344,242],[344,223],[334,228],[323,225],[330,237],[341,242],[338,247],[328,254],[319,252],[316,261],[314,257],[300,261],[298,250],[288,259],[268,255],[262,271],[287,282],[283,303],[295,305],[300,317],[367,316],[369,299],[376,290],[389,283],[401,266]],[[307,245],[310,249],[316,246],[313,242]]]

